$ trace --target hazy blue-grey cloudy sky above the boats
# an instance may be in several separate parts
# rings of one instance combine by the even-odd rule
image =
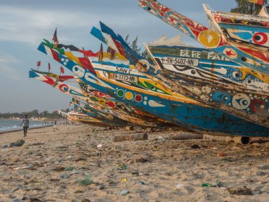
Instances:
[[[162,4],[208,26],[202,3],[215,11],[230,11],[234,0],[166,0]],[[139,45],[167,35],[182,35],[138,6],[137,0],[0,0],[0,113],[55,111],[68,108],[71,97],[36,79],[28,79],[30,68],[59,74],[60,64],[37,50],[43,38],[52,40],[57,28],[60,43],[97,52],[100,42],[91,36],[93,26],[102,21]],[[199,46],[183,36],[184,43]],[[66,69],[65,75],[71,75]]]

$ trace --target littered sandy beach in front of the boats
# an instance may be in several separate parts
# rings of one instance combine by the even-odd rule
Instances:
[[[113,142],[145,131],[58,128],[0,135],[1,145],[25,140],[1,149],[0,201],[269,201],[266,139],[176,141],[168,138],[180,132],[162,131],[147,141]]]

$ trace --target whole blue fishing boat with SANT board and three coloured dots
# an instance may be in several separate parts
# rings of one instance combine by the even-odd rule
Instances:
[[[184,96],[172,92],[166,87],[148,79],[135,69],[127,71],[121,70],[117,72],[117,64],[115,66],[109,64],[93,63],[93,68],[96,74],[92,74],[88,69],[79,66],[74,60],[69,60],[65,55],[61,55],[57,50],[45,46],[41,43],[38,50],[50,55],[57,62],[60,62],[78,76],[83,82],[93,86],[105,94],[114,96],[115,98],[127,104],[135,106],[142,111],[152,113],[155,116],[160,116],[176,123],[187,129],[198,130],[201,133],[208,133],[213,135],[242,135],[242,136],[267,136],[268,128],[249,123],[246,120],[231,116],[223,111],[214,108],[209,108],[196,101],[188,99]],[[103,68],[105,71],[98,70]],[[112,68],[112,69],[111,69]],[[122,64],[125,68],[125,64]],[[115,69],[115,70],[114,70]],[[162,91],[155,91],[154,88],[150,90],[145,86],[139,87],[135,84],[130,85],[130,82],[119,81],[118,79],[111,79],[106,77],[104,72],[111,71],[115,74],[126,74],[129,76],[138,77],[149,82],[155,88]],[[113,73],[113,74],[114,74]],[[108,74],[107,74],[108,75]],[[147,85],[146,85],[147,86]]]

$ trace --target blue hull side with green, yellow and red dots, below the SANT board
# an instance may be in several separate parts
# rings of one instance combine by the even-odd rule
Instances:
[[[59,52],[45,47],[44,44],[41,44],[38,50],[52,56],[52,58],[80,77],[81,80],[103,91],[105,94],[115,96],[125,103],[153,113],[155,116],[166,118],[166,120],[178,125],[183,125],[185,128],[202,130],[203,133],[207,132],[214,135],[268,135],[267,128],[230,116],[217,109],[184,102],[173,103],[171,100],[156,96],[156,92],[136,90],[128,85],[118,85],[118,83],[114,83],[111,79],[100,79],[98,78],[100,75],[96,77],[96,75],[88,72],[87,69],[68,60],[64,55],[60,55]],[[66,62],[64,63],[62,60]]]

